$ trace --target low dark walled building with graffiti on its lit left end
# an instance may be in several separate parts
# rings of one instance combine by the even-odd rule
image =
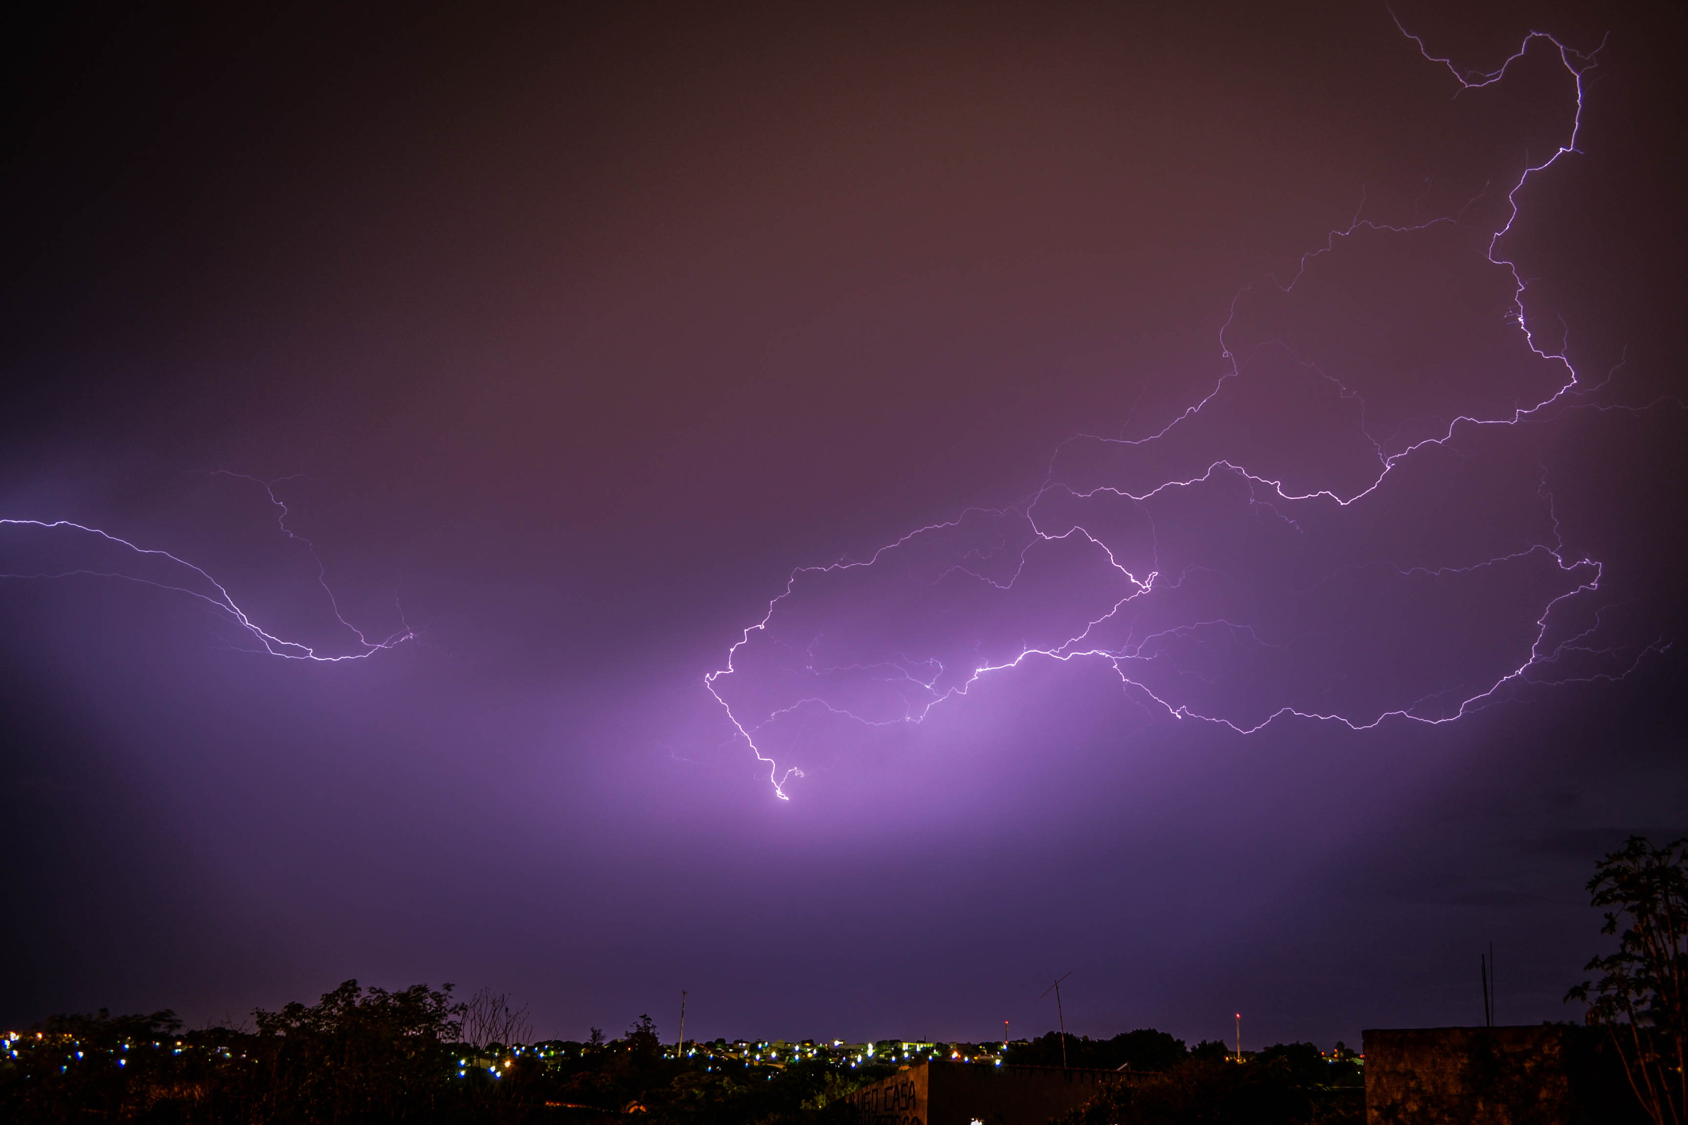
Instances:
[[[922,1063],[846,1098],[861,1125],[1048,1125],[1077,1110],[1121,1071],[1060,1066]]]

